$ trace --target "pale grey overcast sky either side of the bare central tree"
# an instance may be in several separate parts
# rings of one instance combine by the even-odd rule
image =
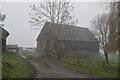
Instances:
[[[17,44],[19,47],[36,47],[36,38],[40,30],[32,30],[29,24],[31,3],[27,2],[4,2],[2,13],[6,15],[4,28],[10,33],[7,44]],[[79,20],[77,26],[90,27],[90,21],[103,12],[97,2],[75,2],[74,16]]]

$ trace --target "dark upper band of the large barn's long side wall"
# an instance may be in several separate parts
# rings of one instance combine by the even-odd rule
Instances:
[[[58,46],[61,46],[61,44],[64,44],[64,47],[66,47],[66,50],[69,50],[69,51],[86,51],[90,53],[99,52],[98,42],[87,42],[87,41],[58,41],[57,42]]]

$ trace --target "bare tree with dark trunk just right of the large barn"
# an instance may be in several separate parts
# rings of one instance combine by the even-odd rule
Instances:
[[[93,29],[98,31],[98,40],[100,43],[100,48],[103,50],[106,63],[108,64],[108,34],[109,34],[109,23],[108,23],[108,15],[102,14],[93,19],[91,21]]]

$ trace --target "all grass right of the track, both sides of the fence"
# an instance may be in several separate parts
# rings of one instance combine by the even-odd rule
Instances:
[[[87,59],[79,59],[78,63],[78,59],[73,57],[62,57],[60,61],[58,58],[53,56],[48,56],[47,59],[55,64],[79,72],[96,74],[105,78],[118,78],[118,56],[114,55],[114,58],[112,56],[113,55],[109,56],[109,64],[105,64],[104,61],[95,61]]]

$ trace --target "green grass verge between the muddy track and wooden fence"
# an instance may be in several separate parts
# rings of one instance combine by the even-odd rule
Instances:
[[[70,59],[65,58],[64,61],[67,61],[67,62],[64,62],[64,61],[59,62],[58,59],[53,58],[53,57],[46,57],[46,58],[55,64],[58,64],[65,68],[73,69],[79,72],[90,73],[90,74],[99,75],[99,76],[107,77],[107,78],[118,78],[118,71],[115,71],[112,69],[106,69],[97,64],[96,65],[86,64],[84,63],[85,60],[81,60],[83,61],[82,64],[76,64],[77,62],[73,59],[70,60]]]

